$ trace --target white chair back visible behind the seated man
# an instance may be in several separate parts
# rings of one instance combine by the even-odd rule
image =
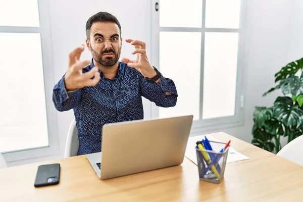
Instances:
[[[66,138],[64,158],[77,156],[78,149],[79,149],[78,130],[76,126],[76,121],[75,119],[73,119]]]

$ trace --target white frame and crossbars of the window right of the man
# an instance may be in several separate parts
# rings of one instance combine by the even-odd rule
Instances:
[[[201,0],[202,3],[202,26],[199,28],[192,27],[160,27],[160,10],[161,0],[151,0],[151,62],[160,67],[160,32],[201,32],[201,69],[200,69],[200,112],[199,120],[194,120],[191,127],[191,133],[198,133],[203,131],[212,131],[223,128],[230,128],[235,126],[241,126],[244,124],[244,65],[245,65],[245,24],[246,24],[246,4],[244,0],[241,0],[240,6],[240,22],[239,29],[230,28],[206,28],[206,0]],[[156,3],[158,3],[159,10],[156,11]],[[203,83],[204,83],[204,56],[205,56],[205,33],[206,32],[236,32],[239,33],[238,42],[238,58],[237,58],[237,75],[236,75],[236,99],[235,99],[235,114],[234,116],[202,119],[203,111]],[[164,75],[169,78],[169,75]],[[177,89],[178,90],[178,89]],[[151,104],[151,117],[159,118],[159,107],[154,103]]]

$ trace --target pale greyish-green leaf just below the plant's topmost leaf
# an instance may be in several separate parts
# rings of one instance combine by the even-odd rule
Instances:
[[[287,79],[280,81],[283,94],[291,93],[294,96],[298,96],[303,93],[303,81],[294,75],[290,75]]]

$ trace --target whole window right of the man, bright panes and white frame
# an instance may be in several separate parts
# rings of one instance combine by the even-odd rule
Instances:
[[[243,2],[153,0],[152,62],[179,95],[173,108],[153,104],[153,117],[192,114],[193,129],[242,124]]]

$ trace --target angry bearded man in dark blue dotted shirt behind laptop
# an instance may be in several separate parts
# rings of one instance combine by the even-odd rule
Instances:
[[[104,124],[143,119],[142,97],[160,107],[173,107],[177,90],[147,60],[145,43],[134,45],[132,61],[119,62],[121,26],[113,15],[99,12],[86,22],[86,47],[92,60],[80,62],[84,45],[69,54],[66,74],[55,85],[53,102],[58,111],[74,110],[79,133],[78,155],[101,150]]]

